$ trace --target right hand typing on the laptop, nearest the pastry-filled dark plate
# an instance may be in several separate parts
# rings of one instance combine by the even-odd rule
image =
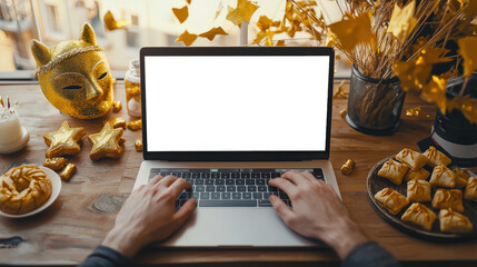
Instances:
[[[277,196],[270,197],[285,224],[302,236],[324,240],[341,259],[366,241],[331,186],[310,172],[288,171],[270,179],[269,185],[284,190],[291,200],[292,209]]]

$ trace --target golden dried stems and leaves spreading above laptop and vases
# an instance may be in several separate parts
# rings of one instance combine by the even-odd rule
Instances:
[[[189,16],[190,3],[187,1],[181,9],[173,9],[181,23]],[[284,39],[274,40],[274,37],[286,33],[294,38],[296,32],[308,32],[318,43],[342,52],[364,76],[377,80],[398,77],[404,91],[417,90],[443,113],[458,109],[470,122],[477,123],[477,100],[464,96],[465,86],[459,96],[446,98],[448,79],[457,77],[461,68],[468,79],[477,69],[474,49],[477,27],[473,23],[477,17],[477,1],[336,0],[342,18],[335,23],[326,22],[325,16],[329,16],[324,7],[321,13],[317,13],[319,4],[312,0],[287,0],[281,20],[259,17],[256,23],[259,31],[252,43],[285,46]],[[228,7],[227,20],[240,27],[258,8],[250,0],[238,0],[236,8]],[[216,34],[228,33],[221,27],[199,34],[186,30],[177,41],[190,46],[198,37],[212,40]],[[457,43],[457,53],[446,48],[449,42]],[[440,63],[448,63],[447,71],[433,73],[433,67]],[[376,109],[367,110],[369,115],[381,111]]]

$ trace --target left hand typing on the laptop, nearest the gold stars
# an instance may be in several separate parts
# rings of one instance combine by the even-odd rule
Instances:
[[[156,176],[132,191],[101,245],[132,257],[143,246],[166,239],[193,214],[197,200],[189,199],[175,212],[176,199],[189,182],[173,176]]]

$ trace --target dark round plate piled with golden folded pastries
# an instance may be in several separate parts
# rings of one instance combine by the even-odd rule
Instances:
[[[388,222],[413,236],[459,240],[477,237],[477,177],[453,168],[435,147],[405,148],[368,174],[368,197]]]

